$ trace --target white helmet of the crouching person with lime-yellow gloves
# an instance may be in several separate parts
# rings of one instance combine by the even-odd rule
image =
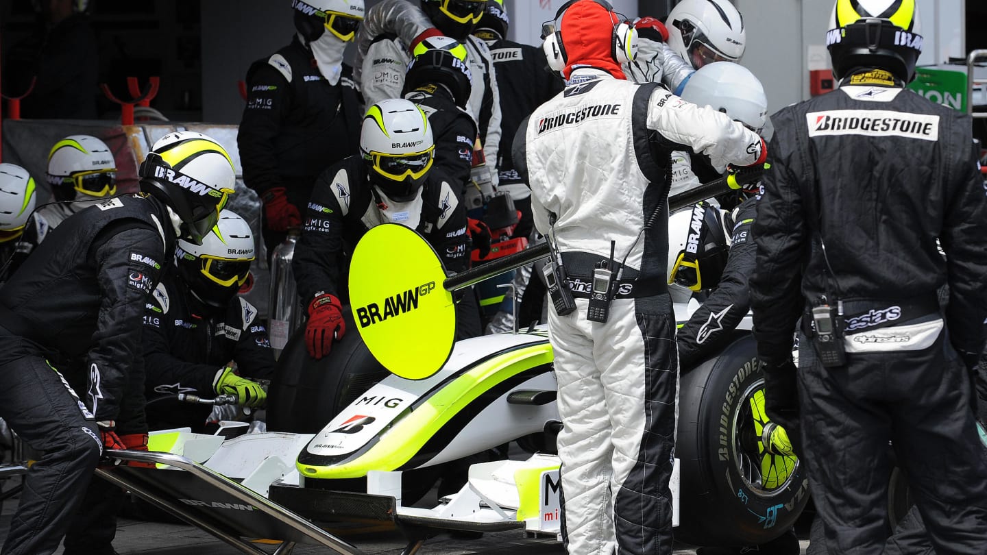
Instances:
[[[219,222],[196,245],[180,239],[175,251],[179,276],[192,295],[217,308],[225,307],[250,276],[256,258],[254,232],[232,210],[219,213]]]

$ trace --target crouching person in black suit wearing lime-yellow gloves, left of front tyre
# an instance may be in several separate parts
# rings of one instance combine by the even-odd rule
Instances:
[[[266,391],[254,380],[270,379],[274,355],[257,308],[237,296],[254,258],[250,225],[230,210],[219,214],[201,245],[179,241],[176,267],[158,283],[144,315],[151,430],[206,432],[210,407],[153,400],[162,395],[236,395],[238,405],[264,405]]]

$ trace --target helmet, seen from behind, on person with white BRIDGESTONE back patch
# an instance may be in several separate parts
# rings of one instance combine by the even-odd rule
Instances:
[[[890,72],[909,83],[922,53],[915,0],[837,0],[826,46],[833,76],[842,79],[854,68]]]

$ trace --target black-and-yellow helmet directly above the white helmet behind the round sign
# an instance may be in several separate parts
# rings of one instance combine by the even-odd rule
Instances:
[[[405,92],[442,85],[449,89],[456,106],[465,109],[473,90],[472,81],[466,46],[448,37],[432,37],[415,46],[415,58],[405,75]]]

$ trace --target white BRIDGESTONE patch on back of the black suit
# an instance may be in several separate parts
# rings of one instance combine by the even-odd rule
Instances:
[[[805,115],[808,136],[866,135],[939,140],[939,116],[885,110],[833,110]]]

